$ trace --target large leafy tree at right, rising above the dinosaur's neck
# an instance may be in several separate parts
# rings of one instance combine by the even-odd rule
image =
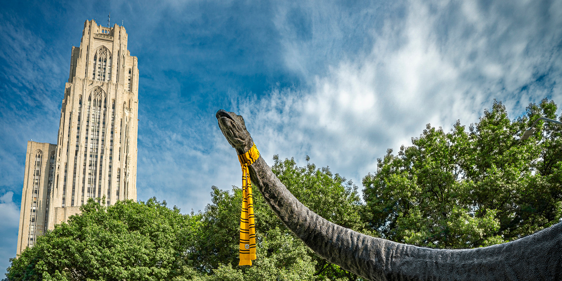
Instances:
[[[554,102],[531,104],[510,121],[505,106],[469,130],[427,125],[412,146],[388,149],[363,179],[365,220],[384,238],[439,248],[473,248],[512,241],[560,220],[560,128],[531,122],[555,118]]]

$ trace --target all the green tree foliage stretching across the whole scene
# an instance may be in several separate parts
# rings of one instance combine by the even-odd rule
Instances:
[[[411,146],[378,159],[363,179],[363,201],[353,183],[308,157],[298,166],[274,156],[271,168],[305,206],[346,228],[423,247],[503,243],[562,217],[562,126],[541,121],[519,139],[538,117],[556,119],[556,110],[545,99],[510,120],[495,102],[468,130],[460,121],[450,132],[428,124]],[[212,203],[197,214],[156,198],[109,207],[89,200],[11,259],[6,279],[362,280],[317,256],[253,195],[253,266],[237,266],[241,189],[212,187]]]

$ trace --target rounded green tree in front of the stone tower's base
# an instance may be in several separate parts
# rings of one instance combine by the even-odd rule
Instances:
[[[80,210],[11,259],[7,279],[163,280],[188,273],[183,253],[200,215],[182,215],[156,198],[110,207],[90,198]]]

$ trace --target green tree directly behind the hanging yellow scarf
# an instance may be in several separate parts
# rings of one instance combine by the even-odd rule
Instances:
[[[242,191],[233,192],[212,187],[212,203],[206,206],[198,226],[193,251],[186,257],[194,263],[201,280],[312,280],[314,264],[309,249],[293,235],[278,227],[268,228],[260,223],[268,217],[263,197],[253,193],[256,214],[256,242],[258,259],[253,265],[238,267],[239,217]],[[266,209],[267,208],[267,209]],[[300,273],[295,275],[295,273]]]

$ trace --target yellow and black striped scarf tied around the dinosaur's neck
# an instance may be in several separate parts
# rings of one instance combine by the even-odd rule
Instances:
[[[242,166],[242,214],[240,215],[240,262],[238,265],[252,265],[256,259],[256,227],[253,220],[252,183],[248,165],[260,157],[256,144],[243,155],[238,155]]]

